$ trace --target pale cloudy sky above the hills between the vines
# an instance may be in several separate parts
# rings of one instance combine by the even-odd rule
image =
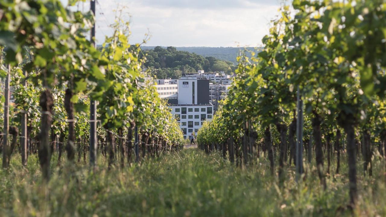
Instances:
[[[280,0],[98,0],[97,43],[102,44],[114,20],[113,10],[127,7],[130,43],[147,46],[259,46],[268,33],[269,21],[278,14]],[[90,3],[80,3],[88,10]],[[101,12],[103,14],[101,14]],[[129,19],[127,17],[127,19]]]

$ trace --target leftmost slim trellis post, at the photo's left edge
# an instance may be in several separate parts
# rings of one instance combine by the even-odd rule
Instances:
[[[9,129],[9,80],[11,74],[11,64],[8,64],[7,78],[4,85],[4,132],[3,132],[3,168],[8,168],[8,129]]]

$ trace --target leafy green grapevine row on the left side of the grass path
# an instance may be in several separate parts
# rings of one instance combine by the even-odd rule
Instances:
[[[24,166],[37,155],[48,181],[64,151],[66,164],[89,158],[93,166],[99,152],[108,168],[118,160],[123,168],[179,149],[182,132],[144,80],[146,58],[139,58],[139,44],[130,46],[122,10],[113,35],[96,49],[86,38],[95,32],[92,10],[73,12],[59,0],[1,1],[0,8],[3,169],[17,153]]]

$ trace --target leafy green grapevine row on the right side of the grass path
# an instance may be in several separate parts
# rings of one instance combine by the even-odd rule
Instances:
[[[349,195],[342,209],[359,212],[363,185],[371,185],[359,180],[385,180],[385,7],[382,0],[282,7],[263,51],[239,57],[228,97],[198,132],[199,147],[239,167],[267,156],[282,189],[315,175],[327,191],[326,180],[341,174]]]

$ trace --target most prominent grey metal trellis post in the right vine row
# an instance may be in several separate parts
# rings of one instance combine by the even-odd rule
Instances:
[[[298,85],[298,118],[296,120],[296,180],[303,173],[303,100]]]

